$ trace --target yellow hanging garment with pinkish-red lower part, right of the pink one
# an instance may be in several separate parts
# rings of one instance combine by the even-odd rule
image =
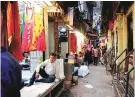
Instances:
[[[45,32],[43,27],[43,9],[34,14],[34,30],[32,37],[31,50],[45,51]]]

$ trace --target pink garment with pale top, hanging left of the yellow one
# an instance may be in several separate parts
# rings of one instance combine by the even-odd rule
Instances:
[[[26,8],[26,16],[25,16],[25,25],[22,37],[22,51],[28,52],[31,51],[30,49],[32,44],[32,32],[34,28],[34,21],[33,21],[33,9]]]

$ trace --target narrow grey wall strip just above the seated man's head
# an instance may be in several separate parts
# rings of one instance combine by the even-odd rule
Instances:
[[[49,54],[54,52],[54,25],[53,22],[48,23],[48,37],[49,37]]]

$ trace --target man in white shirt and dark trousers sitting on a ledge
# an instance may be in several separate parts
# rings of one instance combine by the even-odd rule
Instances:
[[[56,60],[56,54],[51,53],[50,59],[47,59],[46,61],[44,61],[43,63],[39,64],[36,67],[36,71],[32,75],[28,86],[31,86],[34,83],[34,81],[38,79],[39,75],[45,78],[47,80],[46,81],[47,83],[54,82],[55,78],[58,81],[60,79],[58,76],[59,75],[58,70],[56,69],[58,65],[59,62]],[[45,67],[45,68],[41,68],[41,67]]]

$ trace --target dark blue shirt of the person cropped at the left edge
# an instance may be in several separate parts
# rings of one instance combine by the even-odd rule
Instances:
[[[19,63],[1,47],[1,97],[20,97],[21,78]]]

